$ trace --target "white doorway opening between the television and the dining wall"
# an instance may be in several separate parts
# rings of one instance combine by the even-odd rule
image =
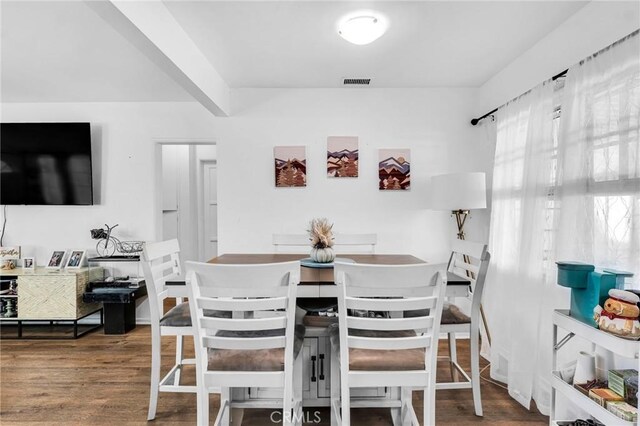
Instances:
[[[176,238],[182,261],[217,255],[217,158],[212,142],[157,145],[157,240]]]

